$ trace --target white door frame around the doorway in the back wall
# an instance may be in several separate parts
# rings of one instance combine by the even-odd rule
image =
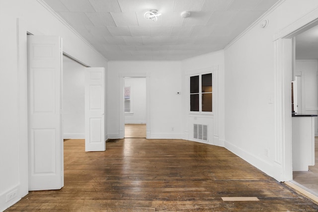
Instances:
[[[150,74],[149,73],[120,73],[119,74],[119,138],[125,138],[125,108],[124,86],[125,77],[146,78],[146,139],[151,138],[150,131]]]

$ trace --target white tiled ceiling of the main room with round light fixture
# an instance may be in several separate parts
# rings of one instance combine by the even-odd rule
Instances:
[[[44,1],[108,60],[169,61],[223,49],[278,0]]]

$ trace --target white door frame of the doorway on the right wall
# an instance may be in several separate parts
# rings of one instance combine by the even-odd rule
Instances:
[[[275,78],[275,171],[274,178],[293,179],[291,89],[293,38],[318,24],[318,8],[279,30],[273,38]]]

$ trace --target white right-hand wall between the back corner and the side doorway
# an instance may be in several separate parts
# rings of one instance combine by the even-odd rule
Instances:
[[[274,70],[278,67],[275,51],[278,46],[274,38],[317,6],[316,0],[280,1],[272,12],[225,49],[226,147],[281,181],[290,179],[281,175],[288,162],[284,164],[285,161],[280,160],[285,157],[285,148],[275,137],[281,129],[278,126],[275,129],[275,120],[279,118],[275,117],[275,104],[279,102],[274,99],[280,94],[275,92]],[[263,19],[268,19],[266,28],[259,26]]]

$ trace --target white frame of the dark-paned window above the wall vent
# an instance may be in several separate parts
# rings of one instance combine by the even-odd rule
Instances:
[[[202,75],[204,74],[212,74],[212,91],[211,92],[203,92],[203,93],[212,93],[212,112],[207,112],[207,111],[202,111]],[[191,106],[190,106],[190,80],[192,76],[199,76],[199,111],[191,111]],[[195,73],[195,74],[191,74],[188,75],[188,112],[189,114],[198,114],[198,115],[214,115],[214,87],[215,83],[214,83],[214,71],[205,71],[205,72],[200,72],[200,73]],[[196,94],[196,93],[192,93],[192,94]]]

